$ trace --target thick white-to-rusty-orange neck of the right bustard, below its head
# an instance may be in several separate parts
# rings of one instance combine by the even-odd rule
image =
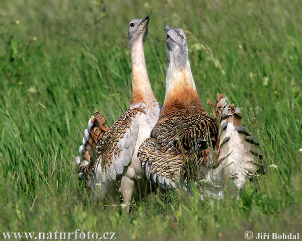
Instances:
[[[189,60],[183,65],[169,61],[166,74],[166,96],[161,115],[199,113],[204,108],[198,97]]]

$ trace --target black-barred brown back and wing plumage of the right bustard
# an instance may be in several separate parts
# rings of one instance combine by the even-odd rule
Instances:
[[[150,138],[146,139],[138,150],[138,158],[144,175],[152,180],[153,184],[156,184],[158,175],[162,175],[166,182],[170,178],[172,180],[184,178],[187,181],[189,172],[186,172],[183,177],[180,175],[184,173],[184,169],[190,169],[190,173],[194,174],[192,167],[199,167],[207,162],[206,149],[199,153],[196,153],[198,151],[190,152],[190,150],[194,146],[197,148],[197,138],[207,139],[208,135],[210,135],[208,145],[211,146],[211,141],[216,142],[217,126],[210,116],[196,114],[183,115],[179,118],[179,116],[161,115]],[[179,140],[179,145],[176,139]],[[190,167],[186,167],[187,158],[191,162]],[[166,188],[163,182],[158,185]],[[166,185],[170,188],[169,184],[166,183]]]

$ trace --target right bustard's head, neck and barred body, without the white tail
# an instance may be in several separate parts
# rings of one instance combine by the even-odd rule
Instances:
[[[150,137],[138,150],[143,173],[163,189],[187,183],[196,170],[206,175],[209,147],[215,145],[218,126],[198,97],[188,59],[186,36],[165,25],[167,38],[166,95]]]

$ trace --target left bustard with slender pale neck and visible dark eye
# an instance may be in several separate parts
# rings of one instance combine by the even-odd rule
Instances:
[[[84,157],[77,157],[80,177],[84,177],[86,186],[92,188],[95,200],[106,197],[117,185],[126,212],[129,212],[133,191],[139,193],[139,185],[145,184],[136,158],[138,147],[149,137],[160,115],[160,106],[149,83],[144,57],[143,45],[148,22],[149,16],[146,16],[129,23],[132,68],[132,98],[129,108],[106,132],[106,128],[98,129],[102,134],[97,137],[95,152],[92,151],[90,155],[88,150],[88,156],[86,154],[85,157],[87,151],[85,146],[88,142],[94,143],[95,140],[94,136],[91,136],[91,131],[86,131],[82,145],[84,147],[80,147],[80,153]],[[92,121],[92,125],[93,123]],[[134,184],[136,181],[138,185]]]

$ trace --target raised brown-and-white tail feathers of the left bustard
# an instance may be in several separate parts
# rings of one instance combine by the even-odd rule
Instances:
[[[79,179],[85,180],[86,188],[93,176],[94,164],[97,160],[95,146],[107,130],[108,126],[104,117],[98,110],[95,110],[95,115],[91,116],[88,128],[84,131],[83,144],[79,148],[80,155],[75,158],[80,170]]]

